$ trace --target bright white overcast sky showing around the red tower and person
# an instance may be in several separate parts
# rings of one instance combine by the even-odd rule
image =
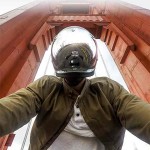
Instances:
[[[15,8],[18,8],[19,6],[23,6],[32,1],[36,1],[36,0],[1,0],[0,1],[0,15],[8,11],[11,11]],[[138,6],[141,6],[143,8],[150,9],[150,0],[122,0],[122,1],[129,2],[132,4],[136,4]],[[99,52],[99,60],[97,63],[97,68],[99,69],[96,69],[95,76],[108,76],[109,77],[109,74],[111,74],[112,79],[118,81],[120,84],[125,86],[125,88],[127,88],[105,44],[101,43],[100,41],[99,41],[99,50],[101,50]],[[49,56],[50,56],[50,51],[47,51],[41,63],[41,66],[39,68],[36,79],[43,76],[44,74],[54,74],[54,69],[52,67],[52,63],[51,63]],[[102,59],[105,62],[103,62]],[[105,68],[105,66],[107,67],[107,69]],[[27,126],[28,125],[25,125],[24,127],[20,128],[18,131],[15,132],[16,133],[15,139],[13,141],[12,146],[8,150],[27,150],[28,149],[29,136],[27,138],[27,143],[25,145],[25,148],[21,149],[21,144],[23,142],[23,138],[24,138]],[[122,150],[135,150],[135,147],[137,148],[137,150],[150,150],[149,145],[140,141],[139,139],[137,139],[136,137],[134,137],[128,132],[126,134],[127,135],[126,135]]]

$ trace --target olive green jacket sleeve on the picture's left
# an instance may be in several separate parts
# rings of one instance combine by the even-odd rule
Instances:
[[[0,137],[19,129],[37,114],[49,92],[45,90],[47,79],[44,76],[0,99]]]

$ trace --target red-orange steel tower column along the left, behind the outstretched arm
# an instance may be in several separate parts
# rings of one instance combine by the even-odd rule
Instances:
[[[48,17],[48,5],[29,4],[0,18],[0,97],[25,87],[33,81],[39,62],[29,42]],[[0,149],[6,150],[13,134],[0,138]]]

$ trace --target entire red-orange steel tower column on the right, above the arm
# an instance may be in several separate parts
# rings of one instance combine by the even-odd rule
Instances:
[[[150,102],[150,11],[131,6],[107,1],[102,18],[111,24],[103,28],[101,39],[110,39],[106,44],[129,90]],[[106,34],[110,31],[111,37]]]

